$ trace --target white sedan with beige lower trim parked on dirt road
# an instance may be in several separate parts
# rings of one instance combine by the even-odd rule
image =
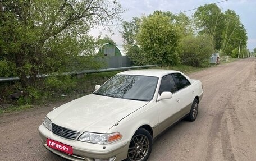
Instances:
[[[202,83],[179,71],[125,71],[49,112],[39,134],[45,148],[69,160],[144,161],[158,134],[196,119],[202,96]]]

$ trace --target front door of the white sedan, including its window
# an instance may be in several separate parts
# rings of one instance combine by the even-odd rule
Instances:
[[[161,133],[167,127],[175,123],[180,118],[181,102],[180,97],[176,94],[177,87],[171,75],[162,77],[159,88],[159,95],[163,91],[172,92],[172,98],[163,99],[156,102],[158,108],[158,132]]]

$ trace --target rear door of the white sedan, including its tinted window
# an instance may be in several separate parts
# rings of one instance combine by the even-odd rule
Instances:
[[[194,100],[194,90],[191,83],[181,73],[172,73],[172,78],[177,86],[176,94],[179,95],[181,103],[181,116],[190,112],[191,104]]]

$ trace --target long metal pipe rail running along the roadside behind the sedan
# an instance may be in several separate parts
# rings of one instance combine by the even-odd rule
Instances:
[[[132,66],[132,67],[119,67],[119,68],[108,68],[108,69],[99,69],[99,70],[83,70],[78,72],[65,72],[60,75],[82,75],[85,73],[100,73],[100,72],[112,72],[112,71],[121,71],[121,70],[130,70],[136,68],[147,68],[147,67],[156,67],[159,65],[145,65],[145,66]],[[58,75],[58,74],[56,74]],[[41,74],[37,75],[38,78],[52,76],[51,74]],[[20,80],[19,77],[0,77],[0,82],[12,82]]]

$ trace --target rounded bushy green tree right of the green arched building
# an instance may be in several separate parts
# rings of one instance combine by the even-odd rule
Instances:
[[[170,17],[161,14],[143,17],[136,40],[141,47],[141,58],[144,58],[140,65],[175,65],[179,62],[180,35]]]

